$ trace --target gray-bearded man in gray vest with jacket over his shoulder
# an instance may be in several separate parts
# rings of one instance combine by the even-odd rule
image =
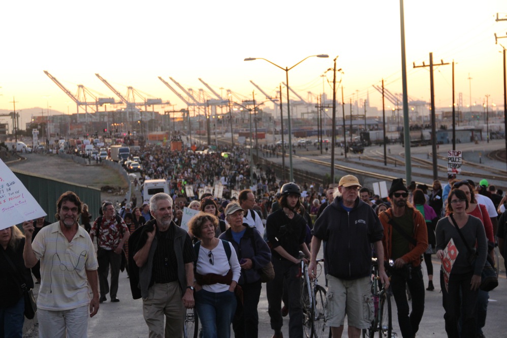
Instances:
[[[172,221],[172,205],[165,193],[151,197],[154,220],[138,229],[141,234],[134,251],[150,338],[182,337],[185,308],[195,305],[195,251],[188,233]]]

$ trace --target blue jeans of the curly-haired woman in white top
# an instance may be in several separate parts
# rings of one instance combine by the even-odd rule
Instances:
[[[224,292],[198,291],[194,294],[196,310],[203,327],[203,338],[229,338],[236,311],[236,295]]]

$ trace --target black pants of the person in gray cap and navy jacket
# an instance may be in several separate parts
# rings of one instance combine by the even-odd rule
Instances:
[[[243,304],[238,300],[236,314],[232,322],[236,338],[257,338],[259,335],[259,297],[261,296],[261,280],[241,285]]]

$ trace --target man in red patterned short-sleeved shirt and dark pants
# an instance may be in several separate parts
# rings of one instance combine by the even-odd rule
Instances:
[[[130,232],[121,217],[116,215],[116,210],[111,202],[104,202],[102,205],[104,216],[95,220],[91,227],[90,237],[97,236],[97,260],[99,262],[99,285],[102,303],[107,300],[109,284],[107,275],[111,265],[111,302],[120,301],[116,297],[118,292],[118,277],[120,274],[121,255],[123,255],[123,244],[129,239]]]

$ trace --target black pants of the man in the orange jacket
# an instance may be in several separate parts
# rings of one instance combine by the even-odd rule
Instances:
[[[412,296],[412,312],[409,314],[406,286]],[[424,282],[421,266],[413,267],[410,278],[404,269],[395,269],[391,276],[391,290],[398,309],[398,323],[403,338],[413,338],[419,330],[424,313]]]

